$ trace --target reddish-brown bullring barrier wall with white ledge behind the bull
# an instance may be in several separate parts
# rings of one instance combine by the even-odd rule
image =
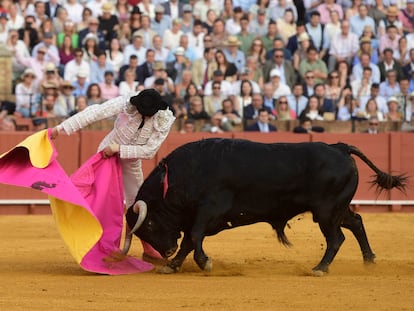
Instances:
[[[63,169],[69,175],[75,172],[81,163],[96,152],[99,142],[106,133],[107,131],[82,131],[71,136],[61,135],[55,140],[58,151],[57,159]],[[31,134],[32,132],[0,133],[0,153],[6,152]],[[414,133],[389,132],[370,135],[349,133],[293,134],[287,132],[180,134],[172,132],[154,159],[143,160],[144,176],[147,176],[157,163],[175,148],[187,142],[209,137],[240,138],[265,143],[319,141],[326,143],[344,142],[355,145],[381,170],[393,174],[404,172],[411,177],[411,180],[405,195],[397,190],[377,195],[375,187],[372,188],[369,183],[373,171],[359,158],[354,157],[360,180],[354,201],[362,203],[355,203],[352,207],[355,210],[377,212],[414,211]],[[0,185],[0,214],[48,214],[50,208],[46,200],[47,196],[36,190]],[[392,204],[387,204],[388,200],[392,200]],[[379,204],[379,202],[383,203]]]

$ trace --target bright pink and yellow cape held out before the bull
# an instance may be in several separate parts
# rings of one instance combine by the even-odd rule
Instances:
[[[69,178],[56,160],[49,131],[29,136],[0,156],[0,183],[49,195],[62,239],[83,269],[110,275],[152,270],[150,263],[121,254],[124,205],[119,158],[103,159],[97,153]]]

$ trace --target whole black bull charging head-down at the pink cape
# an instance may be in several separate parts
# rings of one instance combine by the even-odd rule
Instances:
[[[194,250],[203,270],[211,260],[203,250],[205,236],[224,229],[267,222],[279,241],[289,245],[284,228],[294,216],[310,211],[325,236],[327,248],[317,274],[328,271],[345,237],[352,231],[364,262],[373,262],[360,215],[349,209],[358,185],[354,154],[374,172],[377,190],[404,191],[407,178],[379,170],[361,151],[346,144],[275,143],[207,139],[183,145],[160,162],[146,178],[136,201],[147,203],[147,215],[134,232],[164,257],[177,249],[166,272],[176,272]],[[139,204],[126,218],[132,228]],[[164,269],[165,271],[165,269]]]

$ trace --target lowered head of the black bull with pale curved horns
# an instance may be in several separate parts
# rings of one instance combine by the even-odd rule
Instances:
[[[157,208],[151,208],[154,207],[154,204],[156,202],[149,202],[147,208],[147,204],[139,200],[132,208],[128,209],[126,221],[131,228],[130,238],[132,234],[135,234],[149,243],[161,256],[168,258],[175,253],[178,247],[177,239],[180,235],[179,233],[172,233],[170,224],[165,221],[166,219],[162,215],[156,212]],[[128,252],[129,249],[127,243],[130,244],[130,240],[125,242],[124,253]]]

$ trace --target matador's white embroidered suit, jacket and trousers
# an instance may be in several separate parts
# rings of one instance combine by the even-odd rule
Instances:
[[[99,120],[116,116],[113,130],[105,136],[98,147],[103,150],[111,144],[119,145],[125,202],[129,208],[141,187],[144,178],[141,159],[155,156],[174,123],[175,117],[169,110],[158,110],[153,116],[143,117],[130,103],[129,96],[119,96],[101,105],[92,105],[58,125],[70,135]],[[140,125],[144,118],[144,125]]]

